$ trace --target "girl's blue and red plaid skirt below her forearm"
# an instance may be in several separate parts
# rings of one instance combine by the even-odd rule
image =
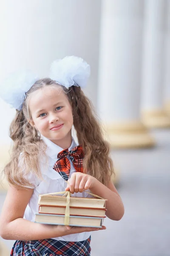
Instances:
[[[10,256],[90,256],[91,236],[80,242],[43,239],[16,241]]]

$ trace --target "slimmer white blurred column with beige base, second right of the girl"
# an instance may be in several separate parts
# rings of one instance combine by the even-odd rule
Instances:
[[[149,128],[170,127],[163,109],[164,0],[146,0],[142,77],[142,121]]]

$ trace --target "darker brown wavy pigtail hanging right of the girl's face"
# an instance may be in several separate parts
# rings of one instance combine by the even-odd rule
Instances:
[[[109,157],[110,146],[104,140],[92,103],[81,88],[72,86],[69,94],[73,108],[74,128],[77,131],[79,144],[85,151],[84,170],[107,185],[114,172],[113,162]]]

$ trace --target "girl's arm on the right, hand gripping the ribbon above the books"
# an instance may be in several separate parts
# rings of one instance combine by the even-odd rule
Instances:
[[[71,193],[74,193],[82,192],[83,189],[90,189],[93,194],[108,199],[108,201],[106,201],[106,216],[108,216],[108,218],[119,221],[123,217],[124,206],[122,199],[111,181],[108,186],[105,186],[90,175],[75,172],[71,175],[68,182],[69,184],[65,189],[66,191],[70,190]]]

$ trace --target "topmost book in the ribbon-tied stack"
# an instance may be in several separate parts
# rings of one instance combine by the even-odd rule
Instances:
[[[59,195],[39,195],[38,204],[66,207],[67,198]],[[105,199],[70,197],[70,207],[105,209]]]

